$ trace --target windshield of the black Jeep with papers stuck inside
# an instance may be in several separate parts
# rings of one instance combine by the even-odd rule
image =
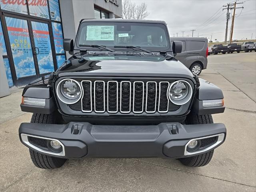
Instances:
[[[124,48],[114,46],[138,46],[148,50],[170,48],[164,24],[130,22],[83,22],[76,46],[90,49],[82,45],[104,45],[115,50]]]

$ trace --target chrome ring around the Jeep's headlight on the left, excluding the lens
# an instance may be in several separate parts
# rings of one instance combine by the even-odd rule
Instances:
[[[75,98],[75,99],[68,99],[66,96],[64,96],[64,95],[62,94],[62,90],[60,90],[60,89],[61,89],[62,82],[67,81],[67,80],[72,80],[72,81],[74,81],[74,82],[78,85],[78,87],[80,88],[80,92],[81,92],[81,93],[80,93],[80,95],[79,95],[77,98]],[[78,81],[74,80],[74,79],[69,79],[69,78],[63,79],[63,80],[61,80],[61,81],[58,83],[57,88],[56,88],[56,93],[57,93],[58,98],[59,98],[62,102],[66,103],[66,104],[74,104],[74,103],[78,102],[78,101],[82,98],[82,95],[84,95],[84,92],[83,92],[83,89],[82,89],[82,86],[80,85],[80,83],[79,83]]]

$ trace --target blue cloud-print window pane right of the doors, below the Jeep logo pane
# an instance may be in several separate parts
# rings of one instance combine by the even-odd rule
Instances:
[[[56,53],[65,53],[63,49],[63,34],[61,24],[52,22],[52,32]]]

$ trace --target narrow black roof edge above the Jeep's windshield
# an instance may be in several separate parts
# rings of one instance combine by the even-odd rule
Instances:
[[[160,24],[166,24],[165,21],[138,20],[138,19],[82,19],[80,22],[132,22],[132,23],[160,23]]]

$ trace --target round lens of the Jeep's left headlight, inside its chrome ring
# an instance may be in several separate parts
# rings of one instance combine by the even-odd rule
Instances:
[[[66,80],[60,86],[62,95],[68,99],[76,99],[80,96],[81,90],[74,80]]]

